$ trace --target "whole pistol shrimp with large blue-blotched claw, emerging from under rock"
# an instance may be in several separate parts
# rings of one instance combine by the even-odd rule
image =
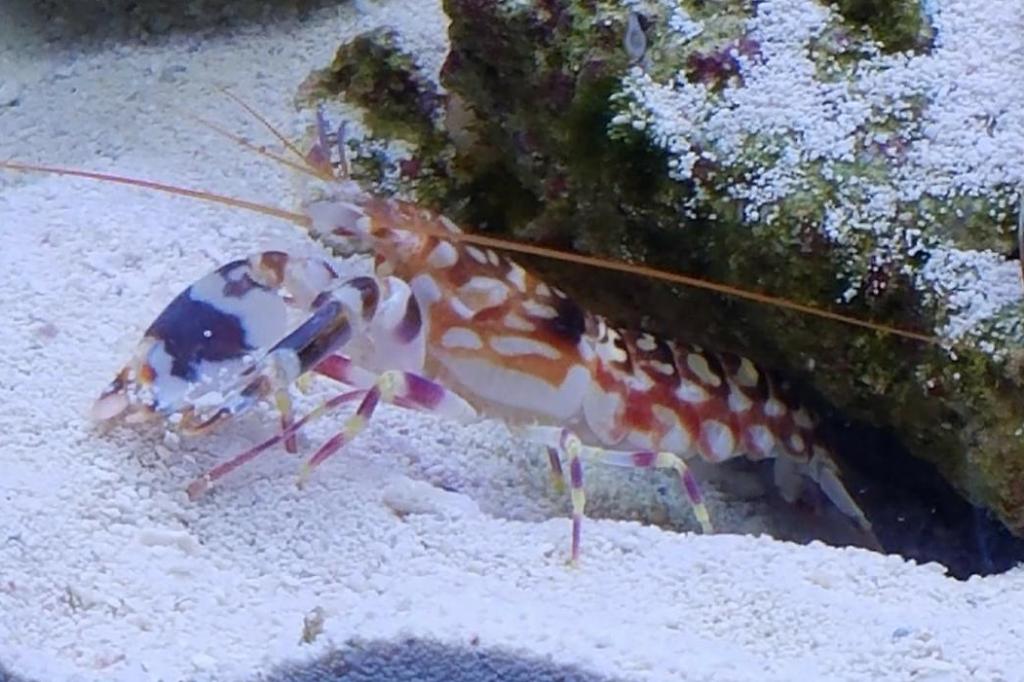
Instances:
[[[341,430],[307,460],[301,482],[355,438],[384,401],[462,421],[503,420],[547,447],[558,480],[567,463],[573,562],[586,509],[585,461],[671,469],[710,532],[687,460],[772,459],[784,499],[795,501],[804,482],[813,482],[871,537],[817,419],[774,375],[734,354],[616,328],[510,258],[471,243],[486,238],[364,190],[348,179],[343,153],[335,174],[331,151],[342,150],[341,134],[328,135],[322,119],[318,126],[307,159],[325,182],[302,214],[146,181],[3,164],[271,213],[336,254],[374,255],[374,276],[348,280],[322,258],[264,252],[236,260],[188,287],[151,325],[93,406],[95,419],[155,417],[198,433],[264,401],[281,414],[276,435],[194,481],[190,497],[273,445],[294,451],[306,423],[357,401]],[[291,332],[289,308],[306,315]],[[290,388],[310,373],[347,390],[295,420]]]

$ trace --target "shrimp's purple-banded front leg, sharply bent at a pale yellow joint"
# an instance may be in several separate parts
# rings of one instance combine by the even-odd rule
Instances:
[[[367,428],[381,401],[464,422],[476,418],[476,411],[468,402],[440,384],[412,372],[384,372],[377,378],[373,388],[366,392],[355,414],[345,420],[342,430],[324,443],[303,465],[299,474],[300,487],[315,467]]]

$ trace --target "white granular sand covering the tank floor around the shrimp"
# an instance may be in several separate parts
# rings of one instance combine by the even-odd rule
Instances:
[[[0,6],[0,157],[284,206],[288,173],[185,115],[267,140],[217,91],[230,85],[297,136],[295,87],[345,36],[390,24],[427,63],[443,53],[428,0],[141,42],[131,22],[86,33],[33,4]],[[611,520],[665,513],[664,476],[588,470],[601,518],[571,569],[567,501],[501,425],[384,410],[301,492],[299,460],[274,453],[191,503],[187,481],[271,415],[178,442],[99,429],[89,404],[189,282],[313,247],[269,218],[10,173],[0,239],[0,678],[248,680],[334,652],[333,679],[353,680],[1024,680],[1024,572],[958,583],[860,550]],[[390,657],[368,663],[376,650]]]

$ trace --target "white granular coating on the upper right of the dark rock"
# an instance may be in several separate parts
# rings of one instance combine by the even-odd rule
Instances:
[[[703,27],[671,4],[648,7],[662,13],[667,44],[699,52]],[[848,299],[871,293],[872,271],[900,271],[943,304],[938,334],[991,348],[993,337],[1019,335],[1000,319],[1024,293],[1019,269],[1013,276],[1016,264],[1004,255],[949,233],[979,217],[996,230],[1017,211],[1020,5],[933,2],[928,18],[930,50],[885,54],[851,38],[821,3],[765,0],[731,47],[713,48],[735,70],[731,79],[694,82],[636,68],[623,81],[609,132],[641,131],[669,153],[668,172],[679,180],[691,179],[701,158],[727,169],[722,186],[696,182],[689,211],[714,190],[739,203],[752,225],[773,224],[787,217],[787,201],[811,199],[819,229],[846,255]],[[957,215],[965,205],[972,209]]]

